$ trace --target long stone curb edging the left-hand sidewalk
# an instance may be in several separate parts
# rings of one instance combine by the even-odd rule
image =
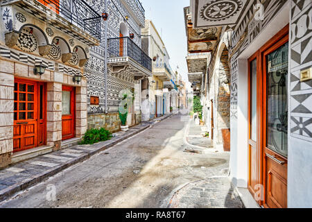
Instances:
[[[105,150],[107,150],[107,148],[115,146],[116,144],[123,142],[125,139],[133,137],[134,135],[137,135],[137,134],[141,133],[142,131],[144,131],[148,128],[151,128],[152,126],[155,126],[155,124],[157,124],[158,121],[163,121],[164,119],[168,119],[169,117],[172,117],[173,114],[175,114],[175,113],[169,114],[168,116],[163,117],[163,118],[160,117],[154,123],[150,123],[146,126],[143,126],[139,129],[137,129],[135,132],[121,136],[119,138],[113,137],[112,139],[110,139],[106,142],[107,144],[104,144],[103,146],[101,146],[101,148],[97,148],[94,151],[91,151],[90,153],[85,153],[84,155],[82,155],[80,157],[76,157],[76,158],[70,160],[69,162],[64,163],[58,167],[53,167],[53,168],[46,170],[42,173],[38,173],[37,175],[32,176],[31,178],[27,178],[26,180],[23,180],[22,182],[19,182],[15,185],[12,185],[6,189],[1,190],[0,191],[0,203],[3,200],[10,198],[10,196],[13,196],[13,194],[16,194],[18,191],[23,191],[29,187],[32,187],[33,185],[36,185],[39,182],[42,182],[46,178],[54,176],[55,174],[59,173],[60,171],[63,171],[64,169],[67,169],[67,168],[73,166],[74,164],[78,164],[79,162],[83,162],[85,160],[88,160],[90,157],[92,157],[96,153],[100,153],[102,151],[105,151]]]

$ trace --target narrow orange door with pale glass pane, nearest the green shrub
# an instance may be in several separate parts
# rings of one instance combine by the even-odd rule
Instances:
[[[62,87],[62,140],[75,137],[75,88]]]

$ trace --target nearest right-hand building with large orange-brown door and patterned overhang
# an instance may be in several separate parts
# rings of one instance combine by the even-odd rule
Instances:
[[[312,207],[311,6],[191,0],[187,14],[189,28],[220,29],[196,43],[202,52],[202,42],[214,44],[202,90],[209,98],[209,79],[228,65],[230,78],[220,83],[230,87],[230,178],[255,207]]]

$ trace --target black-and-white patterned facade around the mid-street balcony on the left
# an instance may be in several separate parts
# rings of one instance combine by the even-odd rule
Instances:
[[[90,6],[98,13],[105,11],[105,1],[89,1]],[[135,33],[133,41],[141,46],[141,27],[144,26],[145,17],[139,10],[135,0],[107,1],[107,13],[109,15],[106,22],[101,24],[101,44],[91,48],[90,59],[85,65],[85,76],[87,77],[87,99],[88,114],[98,114],[105,112],[105,24],[107,24],[107,38],[119,37],[121,23],[127,26],[129,33]],[[125,17],[128,19],[125,19]],[[119,105],[118,95],[122,89],[133,89],[135,87],[135,77],[129,70],[112,74],[107,69],[107,105],[109,109],[114,107],[117,111]],[[89,105],[90,96],[99,97],[99,105]],[[110,109],[111,110],[111,109]]]

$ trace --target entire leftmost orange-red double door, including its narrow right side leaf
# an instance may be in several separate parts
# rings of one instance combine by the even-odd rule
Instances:
[[[40,88],[42,91],[38,91],[39,85],[42,86]],[[40,92],[42,92],[41,95]],[[38,106],[38,97],[40,106]],[[45,144],[45,101],[44,83],[15,79],[13,152]],[[41,114],[41,119],[38,117],[38,112]]]

